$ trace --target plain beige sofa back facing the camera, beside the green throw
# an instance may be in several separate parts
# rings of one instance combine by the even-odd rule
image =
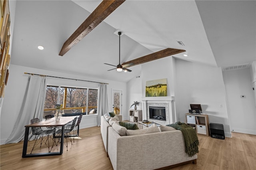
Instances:
[[[114,170],[157,169],[194,160],[180,130],[120,136],[108,128],[108,155]]]

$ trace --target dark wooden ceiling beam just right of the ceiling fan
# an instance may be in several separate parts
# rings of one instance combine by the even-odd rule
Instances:
[[[156,60],[156,59],[168,57],[170,55],[182,53],[182,52],[185,52],[185,51],[186,50],[184,50],[184,49],[166,48],[166,49],[163,49],[161,51],[158,51],[158,52],[155,52],[155,53],[152,53],[152,54],[148,54],[148,55],[145,55],[143,57],[133,59],[131,61],[124,62],[124,63],[122,63],[122,65],[133,63],[133,65],[126,66],[126,67],[131,67],[131,66],[134,66],[134,65],[138,65],[138,64],[146,63],[148,61],[153,61],[153,60]]]

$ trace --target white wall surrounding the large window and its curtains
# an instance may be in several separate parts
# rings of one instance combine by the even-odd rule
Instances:
[[[0,120],[0,144],[3,144],[5,140],[9,137],[12,128],[16,122],[18,117],[18,113],[20,111],[20,107],[22,105],[22,100],[24,97],[24,91],[26,89],[26,84],[28,80],[28,75],[24,74],[24,72],[34,73],[34,74],[42,74],[42,75],[50,75],[56,77],[66,77],[72,79],[81,79],[88,81],[97,81],[108,84],[108,109],[111,111],[111,89],[120,89],[123,92],[123,103],[127,103],[126,101],[126,83],[110,81],[110,80],[102,80],[96,79],[92,77],[84,77],[54,71],[47,71],[42,69],[35,69],[30,67],[22,67],[18,65],[10,65],[9,67],[9,77],[8,77],[8,85],[5,89],[4,101],[2,103],[2,111],[1,111],[1,120]],[[86,81],[75,81],[68,79],[56,79],[56,78],[47,78],[47,83],[51,85],[66,85],[66,86],[74,86],[74,87],[94,87],[98,88],[99,83],[91,83]],[[123,109],[127,110],[127,106],[123,105]],[[28,120],[29,122],[30,120]],[[84,115],[80,124],[80,128],[92,127],[97,125],[97,119],[95,115]],[[8,128],[6,128],[8,127]],[[25,128],[24,128],[25,130]]]

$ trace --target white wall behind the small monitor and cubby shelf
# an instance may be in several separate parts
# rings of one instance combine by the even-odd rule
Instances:
[[[223,124],[225,136],[231,136],[221,68],[179,59],[175,63],[177,120],[185,122],[190,104],[201,104],[209,123]]]

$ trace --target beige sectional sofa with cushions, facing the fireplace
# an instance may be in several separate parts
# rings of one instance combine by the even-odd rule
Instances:
[[[180,130],[156,125],[127,130],[118,121],[108,121],[101,117],[101,133],[114,170],[154,170],[185,162],[196,164],[197,154],[190,157],[185,152]]]

